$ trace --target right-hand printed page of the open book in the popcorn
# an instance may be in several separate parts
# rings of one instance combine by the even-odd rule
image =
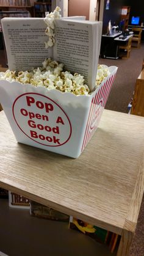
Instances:
[[[55,24],[54,59],[65,64],[65,70],[84,76],[85,84],[88,84],[90,89],[95,87],[97,67],[94,61],[98,64],[99,53],[97,56],[93,56],[93,53],[94,48],[99,47],[95,46],[93,37],[98,23],[63,19],[56,20]],[[100,41],[101,37],[99,43]],[[93,64],[96,70],[93,70]]]

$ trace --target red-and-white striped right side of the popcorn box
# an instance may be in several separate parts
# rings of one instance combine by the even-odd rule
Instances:
[[[90,138],[98,128],[98,124],[101,119],[101,115],[103,114],[104,107],[106,106],[107,98],[109,97],[110,89],[115,79],[115,75],[116,74],[110,76],[110,78],[107,79],[107,81],[104,82],[101,87],[99,87],[99,90],[92,98],[81,151],[84,150],[88,141],[90,141]]]

